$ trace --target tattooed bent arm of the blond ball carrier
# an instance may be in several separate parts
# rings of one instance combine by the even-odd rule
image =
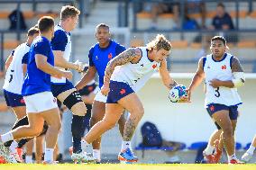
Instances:
[[[111,59],[105,68],[104,85],[109,86],[110,78],[114,72],[114,67],[122,66],[126,63],[136,63],[142,58],[141,49],[130,48]]]

